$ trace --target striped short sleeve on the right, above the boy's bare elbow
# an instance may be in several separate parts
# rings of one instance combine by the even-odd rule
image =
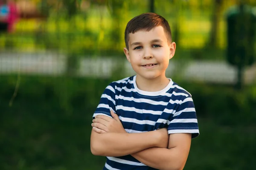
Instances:
[[[191,96],[186,97],[170,117],[168,133],[191,133],[192,138],[199,135],[195,105]]]

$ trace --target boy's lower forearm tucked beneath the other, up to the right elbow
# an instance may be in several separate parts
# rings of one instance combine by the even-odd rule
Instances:
[[[138,153],[131,154],[135,159],[143,164],[159,170],[182,170],[186,159],[182,158],[176,148],[151,147]]]

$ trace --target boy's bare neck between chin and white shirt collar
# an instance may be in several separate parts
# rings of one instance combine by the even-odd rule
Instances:
[[[139,75],[136,77],[136,85],[142,91],[161,91],[163,90],[168,84],[170,80],[166,78],[166,76],[159,76],[154,79],[145,79]]]

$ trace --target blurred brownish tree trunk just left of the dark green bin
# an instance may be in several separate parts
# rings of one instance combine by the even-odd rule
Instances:
[[[216,48],[218,46],[217,37],[220,23],[220,11],[223,0],[214,0],[213,3],[214,7],[212,11],[212,26],[209,36],[209,46]]]

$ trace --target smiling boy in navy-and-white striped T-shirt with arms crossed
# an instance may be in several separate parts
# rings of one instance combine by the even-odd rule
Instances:
[[[165,75],[176,48],[169,23],[154,13],[134,17],[125,44],[137,74],[103,92],[91,152],[107,156],[104,170],[182,170],[199,130],[191,95]]]

